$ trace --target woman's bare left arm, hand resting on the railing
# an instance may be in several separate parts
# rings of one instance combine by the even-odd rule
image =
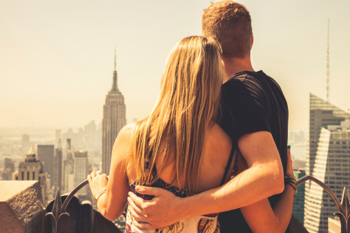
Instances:
[[[97,208],[110,221],[117,219],[123,214],[127,203],[128,191],[130,191],[126,168],[128,156],[130,156],[132,131],[133,125],[126,125],[120,130],[117,139],[115,139],[109,179],[105,174],[96,176],[95,172],[91,175],[93,179],[89,179],[93,196],[96,196],[101,190],[106,188],[107,192],[99,196]]]

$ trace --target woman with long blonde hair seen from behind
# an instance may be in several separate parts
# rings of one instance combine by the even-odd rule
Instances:
[[[88,176],[101,214],[109,220],[120,216],[130,188],[135,192],[137,184],[188,196],[216,188],[230,178],[231,139],[215,123],[221,84],[219,45],[205,37],[186,37],[175,46],[153,112],[142,121],[126,125],[117,136],[109,180],[105,174]],[[133,221],[128,214],[126,232],[155,232],[141,231]],[[215,232],[216,227],[214,213],[166,228]]]

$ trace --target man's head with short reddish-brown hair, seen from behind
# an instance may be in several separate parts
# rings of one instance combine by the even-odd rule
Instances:
[[[202,33],[222,46],[222,57],[244,58],[251,52],[251,15],[240,3],[212,3],[202,15]]]

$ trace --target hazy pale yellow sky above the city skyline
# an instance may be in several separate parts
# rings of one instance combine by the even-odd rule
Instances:
[[[307,129],[309,92],[325,98],[327,19],[331,102],[350,108],[350,1],[246,0],[255,70],[278,83],[290,130]],[[117,49],[126,118],[142,119],[159,92],[165,59],[201,34],[210,1],[0,0],[0,128],[82,127],[102,119]]]

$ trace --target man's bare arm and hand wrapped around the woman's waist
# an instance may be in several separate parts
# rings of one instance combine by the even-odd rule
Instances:
[[[137,192],[155,195],[150,201],[129,192],[130,211],[137,220],[148,222],[135,226],[164,227],[191,216],[234,210],[283,192],[282,163],[271,133],[245,134],[238,147],[249,168],[220,188],[179,198],[166,190],[138,187]]]

